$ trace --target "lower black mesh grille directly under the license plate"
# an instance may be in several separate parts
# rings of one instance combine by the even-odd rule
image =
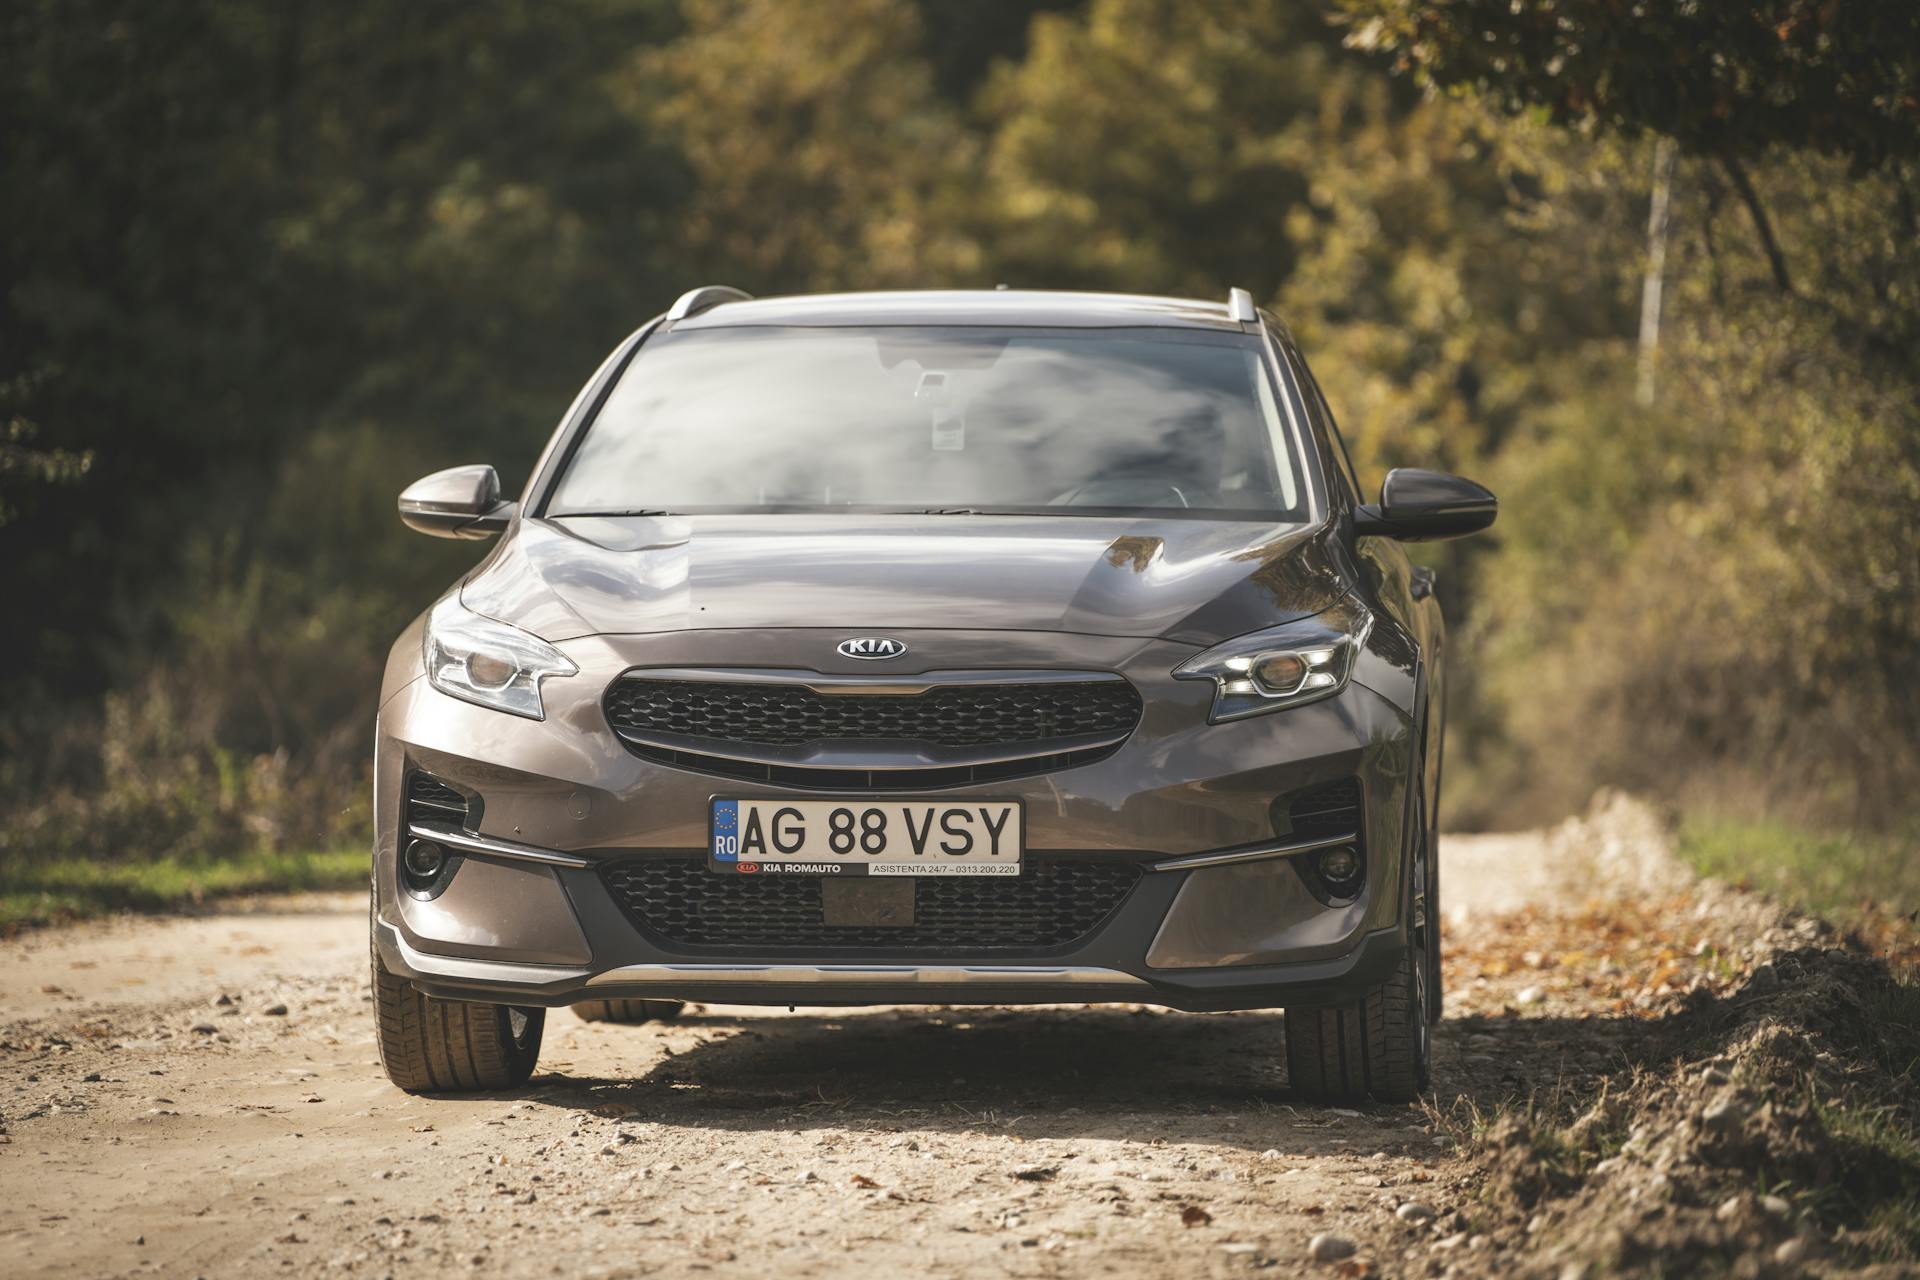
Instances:
[[[674,948],[760,956],[1044,952],[1098,929],[1140,879],[1129,862],[1029,858],[1021,875],[914,881],[914,923],[828,925],[822,879],[739,875],[705,856],[609,862],[601,877],[639,929]]]

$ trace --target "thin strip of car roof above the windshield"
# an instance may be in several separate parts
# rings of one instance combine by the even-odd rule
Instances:
[[[728,290],[732,292],[732,290]],[[674,330],[745,324],[995,324],[1058,328],[1212,328],[1242,332],[1223,301],[1052,290],[895,290],[728,297],[670,320]]]

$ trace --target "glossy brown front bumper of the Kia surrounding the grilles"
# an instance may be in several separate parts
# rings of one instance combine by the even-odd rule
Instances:
[[[1277,844],[1269,806],[1357,777],[1367,887],[1323,904],[1286,858],[1142,871],[1117,910],[1068,948],[1033,954],[743,954],[674,948],[620,910],[607,860],[705,848],[708,798],[801,794],[651,764],[612,735],[599,695],[624,670],[764,666],[764,633],[568,641],[582,674],[547,683],[547,720],[490,712],[399,683],[376,743],[374,942],[428,994],[561,1006],[589,998],[724,1004],[1142,1002],[1177,1009],[1334,1004],[1386,977],[1404,950],[1402,823],[1409,716],[1363,683],[1327,702],[1208,725],[1212,689],[1169,672],[1192,649],[1164,641],[1027,633],[904,633],[924,670],[1071,668],[1127,676],[1146,700],[1106,760],[941,798],[1025,802],[1027,848],[1152,867],[1181,856]],[[417,652],[417,635],[401,637]],[[828,674],[837,674],[828,668]],[[1384,681],[1379,681],[1384,683]],[[474,833],[430,900],[399,887],[409,771],[480,796]],[[515,848],[559,854],[526,860]]]

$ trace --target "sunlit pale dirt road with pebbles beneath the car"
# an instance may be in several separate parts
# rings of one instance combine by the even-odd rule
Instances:
[[[1444,842],[1430,1109],[1298,1105],[1277,1013],[1144,1007],[555,1011],[528,1088],[420,1100],[374,1059],[357,898],[29,935],[0,944],[0,1249],[88,1276],[1526,1268],[1444,1117],[1588,1086],[1711,981],[1649,973],[1632,929],[1569,954],[1601,898],[1667,892],[1615,827]],[[1309,1263],[1315,1236],[1356,1253]]]

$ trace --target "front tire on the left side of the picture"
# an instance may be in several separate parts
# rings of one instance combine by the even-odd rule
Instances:
[[[534,1075],[545,1009],[422,996],[372,956],[372,1006],[386,1079],[409,1094],[518,1088]]]

